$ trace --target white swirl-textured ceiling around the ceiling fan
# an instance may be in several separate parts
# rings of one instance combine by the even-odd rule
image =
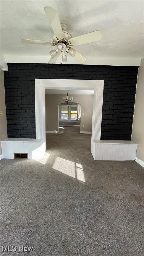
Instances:
[[[75,47],[88,58],[86,64],[98,64],[98,60],[105,59],[140,60],[144,56],[143,4],[138,0],[1,1],[1,52],[10,62],[47,63],[49,51],[54,47],[23,44],[20,39],[52,39],[53,31],[43,9],[51,6],[58,11],[60,22],[68,26],[72,37],[101,31],[101,41]],[[68,56],[67,63],[77,62]]]

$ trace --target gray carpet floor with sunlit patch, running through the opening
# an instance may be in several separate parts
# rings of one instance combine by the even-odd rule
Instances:
[[[42,160],[1,160],[1,255],[143,256],[144,169],[94,161],[90,134],[61,130]]]

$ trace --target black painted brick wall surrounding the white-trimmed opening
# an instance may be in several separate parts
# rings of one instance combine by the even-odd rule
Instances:
[[[101,139],[130,140],[138,67],[8,63],[8,138],[35,138],[35,78],[104,80]]]

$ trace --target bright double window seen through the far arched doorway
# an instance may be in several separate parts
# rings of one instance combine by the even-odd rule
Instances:
[[[59,120],[76,121],[77,105],[59,105]]]

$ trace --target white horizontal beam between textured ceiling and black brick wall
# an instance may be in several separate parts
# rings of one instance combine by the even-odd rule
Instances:
[[[48,64],[50,59],[49,56],[15,56],[15,55],[5,55],[6,63],[44,63]],[[74,58],[68,58],[65,64],[79,64],[79,65],[106,65],[106,66],[140,66],[140,58],[122,58],[122,57],[110,57],[110,56],[99,56],[97,58],[92,56],[86,56],[87,61],[85,63],[79,63]],[[58,59],[56,64],[60,64]],[[64,65],[65,65],[64,64]]]

